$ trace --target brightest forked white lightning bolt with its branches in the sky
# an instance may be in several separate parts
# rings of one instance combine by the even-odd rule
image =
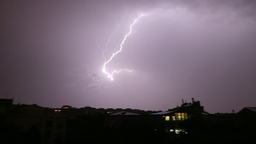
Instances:
[[[124,39],[123,39],[122,43],[120,44],[120,49],[119,49],[119,51],[114,51],[113,54],[112,54],[112,56],[110,57],[110,59],[109,59],[108,61],[106,60],[106,58],[105,58],[105,56],[104,56],[104,52],[107,51],[107,44],[109,43],[110,38],[111,38],[111,37],[116,33],[116,31],[119,29],[119,25],[118,25],[118,29],[114,32],[114,34],[109,37],[108,43],[106,44],[106,50],[105,50],[105,51],[102,51],[103,57],[104,57],[104,59],[105,59],[105,62],[104,62],[104,64],[103,64],[103,69],[102,69],[102,71],[103,71],[103,73],[105,73],[105,74],[107,75],[108,78],[110,78],[111,81],[114,80],[113,75],[114,75],[115,73],[119,73],[119,72],[121,72],[121,71],[123,71],[123,70],[129,71],[129,72],[134,71],[133,69],[131,69],[131,70],[129,70],[129,69],[120,69],[120,70],[114,70],[114,71],[112,71],[112,72],[109,73],[109,72],[106,71],[106,65],[115,57],[115,55],[117,55],[119,52],[122,51],[123,45],[124,45],[124,43],[125,43],[126,38],[127,38],[128,36],[131,36],[131,35],[133,34],[133,33],[132,33],[132,26],[133,26],[133,25],[136,23],[136,21],[137,21],[140,17],[142,17],[142,16],[144,16],[144,14],[140,15],[138,18],[136,18],[136,19],[133,21],[133,23],[130,25],[130,31],[124,36]],[[123,17],[123,19],[124,19],[124,17]],[[121,23],[122,23],[123,19],[121,20]],[[120,24],[121,24],[121,23],[120,23]],[[101,50],[102,50],[102,49],[101,49]],[[116,49],[115,49],[115,50],[116,50]]]

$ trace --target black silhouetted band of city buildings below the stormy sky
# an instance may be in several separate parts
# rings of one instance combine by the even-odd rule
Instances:
[[[192,98],[168,111],[43,108],[0,99],[0,143],[255,143],[256,108],[209,114]]]

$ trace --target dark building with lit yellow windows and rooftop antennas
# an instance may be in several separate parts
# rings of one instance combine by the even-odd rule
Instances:
[[[203,121],[203,117],[210,115],[204,112],[204,107],[200,105],[200,101],[192,98],[192,103],[183,102],[181,106],[168,109],[168,111],[157,112],[148,115],[148,120],[155,122],[155,131],[167,132],[171,136],[175,134],[188,134],[190,128],[187,121]]]

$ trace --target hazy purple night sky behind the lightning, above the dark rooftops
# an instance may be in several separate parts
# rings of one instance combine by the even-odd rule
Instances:
[[[1,98],[60,108],[255,107],[256,1],[1,1]],[[125,15],[125,13],[127,13]],[[133,32],[102,72],[105,57]],[[116,49],[116,50],[119,50]],[[90,75],[87,75],[87,65]],[[74,75],[78,76],[74,76]],[[102,75],[103,77],[99,77]],[[89,77],[90,76],[90,77]],[[96,82],[92,78],[105,78]]]

